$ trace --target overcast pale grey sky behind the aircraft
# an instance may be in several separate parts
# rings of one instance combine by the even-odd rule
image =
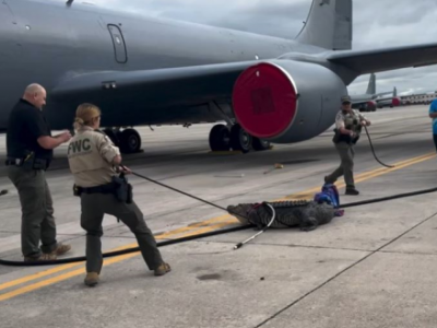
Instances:
[[[78,0],[76,0],[78,1]],[[79,0],[80,1],[80,0]],[[102,7],[294,38],[311,0],[84,0]],[[354,0],[353,49],[437,43],[437,0]],[[369,75],[350,93],[364,93]],[[377,74],[377,92],[437,90],[437,66]]]

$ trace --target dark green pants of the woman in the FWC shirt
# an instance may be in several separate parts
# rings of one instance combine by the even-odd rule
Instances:
[[[102,222],[110,214],[123,222],[135,235],[141,254],[150,270],[163,263],[155,237],[145,224],[141,210],[134,202],[123,203],[111,194],[81,195],[81,226],[86,231],[86,272],[101,273],[103,265]]]

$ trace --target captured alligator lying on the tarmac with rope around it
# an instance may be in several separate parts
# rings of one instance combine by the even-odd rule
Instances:
[[[275,211],[275,220],[271,227],[300,227],[311,231],[319,225],[331,222],[334,216],[342,215],[332,204],[316,201],[281,201],[268,202]],[[227,211],[243,224],[256,225],[262,229],[272,220],[272,210],[262,203],[240,203],[228,206]]]

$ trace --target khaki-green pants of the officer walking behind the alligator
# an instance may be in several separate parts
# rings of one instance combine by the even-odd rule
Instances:
[[[354,145],[349,144],[346,142],[339,142],[335,143],[335,149],[340,155],[341,163],[340,166],[333,173],[327,176],[326,181],[328,184],[333,184],[336,181],[339,177],[344,175],[344,183],[346,184],[346,188],[354,189],[355,188],[354,172],[353,172],[354,157],[355,157]]]

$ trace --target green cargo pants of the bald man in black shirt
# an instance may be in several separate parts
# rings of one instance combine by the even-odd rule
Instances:
[[[54,203],[44,169],[8,166],[8,176],[20,195],[21,247],[24,257],[39,257],[57,248]],[[39,241],[42,247],[39,249]]]

